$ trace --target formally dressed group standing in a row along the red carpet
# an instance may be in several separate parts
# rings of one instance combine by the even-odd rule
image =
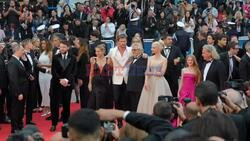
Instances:
[[[92,39],[94,37],[95,34]],[[12,132],[22,129],[25,109],[26,124],[34,124],[32,112],[36,106],[44,108],[42,116],[51,114],[50,131],[56,130],[60,105],[63,107],[61,120],[67,123],[72,90],[77,97],[80,95],[81,108],[116,108],[147,114],[153,113],[159,96],[178,97],[182,104],[185,98],[195,101],[194,91],[201,81],[210,80],[223,90],[225,82],[233,80],[231,58],[225,56],[236,57],[239,50],[236,42],[229,42],[228,52],[222,52],[219,60],[217,47],[204,44],[201,48],[202,60],[197,61],[195,55],[185,58],[180,48],[173,45],[171,35],[163,35],[161,40],[152,43],[150,57],[143,53],[141,40],[133,40],[128,47],[125,34],[117,36],[117,46],[109,52],[106,44],[98,38],[91,45],[82,38],[71,41],[55,33],[51,41],[27,39],[20,44],[11,43],[13,55],[6,68],[1,69],[6,74],[3,76],[8,78],[1,79],[9,81],[10,98],[7,102],[11,104],[7,109]],[[1,45],[1,54],[3,47]],[[247,42],[246,55],[249,48],[250,43]],[[225,64],[227,61],[229,66]],[[1,62],[2,68],[5,63]],[[240,63],[242,71],[247,69],[247,64],[243,63]],[[243,73],[240,71],[240,74]],[[249,73],[244,76],[249,79]],[[1,88],[1,94],[4,91]],[[40,102],[39,92],[42,96]],[[122,125],[122,121],[118,121],[118,125]]]

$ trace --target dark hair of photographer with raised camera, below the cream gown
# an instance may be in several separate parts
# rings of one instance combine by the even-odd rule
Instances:
[[[172,106],[170,103],[159,101],[154,105],[153,115],[164,120],[171,120]]]

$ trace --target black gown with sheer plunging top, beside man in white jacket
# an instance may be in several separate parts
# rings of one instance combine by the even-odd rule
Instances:
[[[111,73],[110,66],[106,63],[102,69],[97,63],[94,65],[94,77],[92,83],[92,94],[88,107],[91,109],[112,108],[112,97],[110,97],[111,89]]]

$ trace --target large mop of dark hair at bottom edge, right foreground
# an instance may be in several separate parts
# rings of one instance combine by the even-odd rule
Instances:
[[[193,125],[192,133],[202,137],[217,136],[226,141],[238,140],[238,130],[235,123],[230,117],[219,111],[210,109],[194,121]]]

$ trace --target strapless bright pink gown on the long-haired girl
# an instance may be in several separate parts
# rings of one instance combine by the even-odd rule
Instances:
[[[196,85],[196,77],[191,73],[184,73],[182,78],[182,87],[179,92],[179,102],[183,105],[185,98],[190,98],[191,101],[195,101],[195,85]]]

